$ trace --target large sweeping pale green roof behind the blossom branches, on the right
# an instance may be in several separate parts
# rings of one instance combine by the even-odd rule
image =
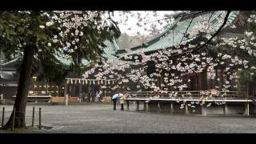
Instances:
[[[177,46],[182,42],[190,42],[190,40],[194,38],[186,38],[183,37],[186,32],[187,27],[190,24],[187,33],[191,32],[195,26],[202,24],[203,21],[209,20],[210,29],[214,32],[218,30],[218,27],[222,25],[222,21],[218,21],[220,15],[224,13],[224,11],[211,11],[211,12],[202,12],[202,14],[198,14],[193,21],[192,18],[178,18],[170,28],[159,34],[157,37],[153,38],[149,42],[146,42],[144,48],[142,46],[136,46],[137,48],[131,50],[126,53],[118,54],[118,56],[123,56],[126,54],[138,54],[138,52],[143,51],[149,52],[154,50],[162,50],[169,48],[171,46]],[[236,18],[237,11],[232,11],[229,15],[227,25],[230,25],[231,22]],[[190,23],[191,22],[191,23]]]

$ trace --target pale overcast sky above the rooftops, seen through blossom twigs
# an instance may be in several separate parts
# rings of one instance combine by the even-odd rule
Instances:
[[[149,34],[149,32],[146,29],[150,29],[150,26],[152,23],[157,25],[158,29],[161,29],[162,26],[166,26],[166,22],[164,20],[161,20],[159,22],[162,22],[162,25],[158,21],[159,19],[166,18],[164,17],[164,14],[174,14],[174,11],[156,11],[157,15],[154,15],[153,11],[131,11],[132,14],[134,14],[134,17],[132,17],[132,14],[126,14],[128,16],[128,21],[124,22],[126,19],[126,15],[119,15],[120,11],[114,11],[114,20],[117,21],[119,24],[119,28],[122,33],[130,34],[130,35],[136,35],[138,32],[140,34]],[[137,26],[136,23],[138,22],[138,14],[141,14],[140,18],[143,18],[142,22],[140,24],[142,25]],[[146,22],[146,25],[144,25],[144,22]],[[170,22],[168,22],[170,25]],[[130,30],[128,30],[130,28]]]

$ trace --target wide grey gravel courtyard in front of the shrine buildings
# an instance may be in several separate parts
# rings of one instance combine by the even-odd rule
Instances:
[[[52,127],[34,133],[256,133],[254,116],[170,115],[121,111],[119,105],[114,111],[112,105],[101,103],[34,106],[35,124],[38,125],[38,108],[42,107],[42,125]],[[7,117],[12,106],[5,107]],[[28,125],[31,125],[32,107],[26,108]],[[2,105],[0,108],[2,113]]]

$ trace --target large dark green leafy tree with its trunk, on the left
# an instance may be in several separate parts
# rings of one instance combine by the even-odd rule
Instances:
[[[116,23],[102,11],[1,11],[0,48],[11,58],[22,56],[18,91],[14,102],[14,127],[26,127],[26,98],[30,77],[39,71],[42,78],[60,83],[72,68],[80,71],[82,61],[98,62],[104,41],[116,38]],[[64,58],[67,66],[60,62]],[[3,127],[13,124],[14,111]]]

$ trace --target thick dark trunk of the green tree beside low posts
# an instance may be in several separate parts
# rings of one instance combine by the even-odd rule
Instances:
[[[26,115],[26,98],[30,89],[30,78],[32,71],[32,62],[34,58],[34,46],[26,46],[23,50],[24,58],[22,62],[22,71],[19,76],[18,90],[14,102],[15,119],[14,128],[25,128],[25,115]],[[10,115],[8,122],[3,127],[4,129],[11,128],[13,125],[14,110]]]

